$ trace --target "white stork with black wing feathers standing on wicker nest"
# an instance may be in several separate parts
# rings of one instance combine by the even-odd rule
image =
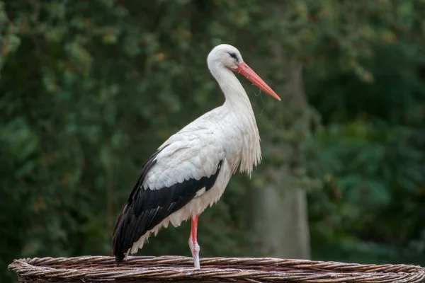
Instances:
[[[113,229],[112,250],[117,264],[129,253],[136,253],[163,226],[179,226],[191,218],[189,246],[199,268],[199,214],[220,199],[238,167],[251,175],[253,166],[261,161],[254,112],[234,72],[273,98],[280,98],[232,45],[216,46],[207,62],[225,93],[225,103],[172,135],[145,163]]]

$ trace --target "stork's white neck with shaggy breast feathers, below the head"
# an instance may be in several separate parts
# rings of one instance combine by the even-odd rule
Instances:
[[[208,67],[225,94],[226,101],[223,107],[236,115],[236,119],[232,122],[238,124],[237,129],[240,129],[240,139],[243,144],[239,158],[235,161],[237,164],[234,170],[240,163],[239,170],[251,175],[253,167],[261,161],[260,134],[251,102],[244,87],[232,71],[220,64]]]

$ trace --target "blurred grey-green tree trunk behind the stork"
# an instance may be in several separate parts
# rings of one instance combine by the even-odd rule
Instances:
[[[307,197],[300,185],[300,179],[305,177],[301,146],[308,133],[302,67],[290,67],[286,77],[286,83],[276,89],[285,103],[284,107],[290,108],[292,113],[291,131],[295,133],[295,141],[263,146],[265,156],[279,149],[285,160],[280,168],[273,168],[275,182],[266,187],[257,187],[254,193],[254,226],[258,239],[256,248],[261,256],[309,259]],[[276,125],[278,129],[279,125]]]

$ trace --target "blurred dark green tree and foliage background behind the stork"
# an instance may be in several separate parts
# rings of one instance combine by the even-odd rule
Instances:
[[[239,48],[263,161],[200,216],[201,256],[425,265],[424,0],[0,0],[0,281],[111,255],[142,164],[223,103]],[[189,223],[140,255],[190,255]]]

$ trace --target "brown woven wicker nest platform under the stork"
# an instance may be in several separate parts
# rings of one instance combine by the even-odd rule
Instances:
[[[359,265],[278,258],[129,257],[119,267],[105,256],[26,258],[8,266],[20,282],[425,282],[416,265]]]

